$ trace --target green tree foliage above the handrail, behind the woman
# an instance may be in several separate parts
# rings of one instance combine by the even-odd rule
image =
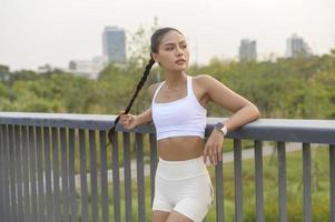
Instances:
[[[157,28],[157,23],[155,24]],[[0,110],[118,114],[131,99],[149,60],[149,33],[139,30],[130,38],[131,52],[125,64],[110,63],[97,80],[53,70],[10,72],[0,65]],[[311,58],[237,62],[213,58],[206,65],[193,64],[188,74],[210,74],[254,102],[263,118],[335,118],[335,50]],[[148,85],[162,79],[157,65],[139,93],[132,113],[150,105]],[[210,104],[208,115],[230,113]]]

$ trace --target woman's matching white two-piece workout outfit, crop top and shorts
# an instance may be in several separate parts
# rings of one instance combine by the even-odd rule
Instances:
[[[173,137],[205,138],[207,110],[198,102],[187,75],[187,95],[166,103],[155,102],[165,81],[157,88],[151,104],[157,140]],[[213,186],[203,157],[185,161],[159,159],[155,178],[152,211],[177,211],[201,222],[213,204]]]

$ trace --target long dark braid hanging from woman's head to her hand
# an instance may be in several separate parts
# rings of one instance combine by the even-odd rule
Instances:
[[[150,60],[149,60],[149,62],[148,62],[148,64],[146,65],[146,70],[145,70],[145,72],[144,72],[144,75],[142,75],[142,78],[140,79],[140,81],[138,82],[137,88],[136,88],[136,91],[135,91],[135,93],[134,93],[134,95],[132,95],[132,98],[131,98],[129,104],[127,105],[125,112],[122,112],[121,114],[119,114],[119,115],[117,117],[117,119],[115,120],[114,127],[112,127],[112,128],[109,130],[109,132],[108,132],[108,138],[109,138],[109,141],[110,141],[110,142],[111,142],[111,138],[112,138],[112,134],[114,134],[114,132],[115,132],[116,125],[118,124],[118,122],[119,122],[119,120],[120,120],[120,117],[121,117],[122,114],[129,113],[129,111],[130,111],[130,109],[131,109],[131,107],[132,107],[132,103],[134,103],[135,99],[137,98],[139,91],[140,91],[141,88],[144,87],[144,84],[146,83],[147,78],[148,78],[148,75],[149,75],[149,73],[150,73],[150,70],[151,70],[151,68],[152,68],[154,64],[155,64],[155,60],[154,60],[152,57],[151,57]]]

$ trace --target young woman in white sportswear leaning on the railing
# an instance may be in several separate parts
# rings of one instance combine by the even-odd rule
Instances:
[[[228,131],[259,118],[258,109],[207,74],[186,73],[189,51],[185,37],[176,29],[162,28],[151,37],[151,59],[137,91],[120,120],[126,129],[154,121],[157,132],[159,162],[157,165],[154,222],[200,222],[213,204],[213,186],[206,161],[221,161],[221,147]],[[157,62],[165,81],[149,87],[151,107],[141,114],[128,111]],[[234,112],[217,123],[204,141],[206,108],[213,101]]]

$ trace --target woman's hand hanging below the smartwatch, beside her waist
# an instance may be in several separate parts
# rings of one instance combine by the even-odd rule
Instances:
[[[207,158],[210,163],[216,165],[223,160],[223,143],[224,135],[218,130],[213,130],[210,137],[208,138],[205,149],[204,149],[204,162],[207,162]]]

